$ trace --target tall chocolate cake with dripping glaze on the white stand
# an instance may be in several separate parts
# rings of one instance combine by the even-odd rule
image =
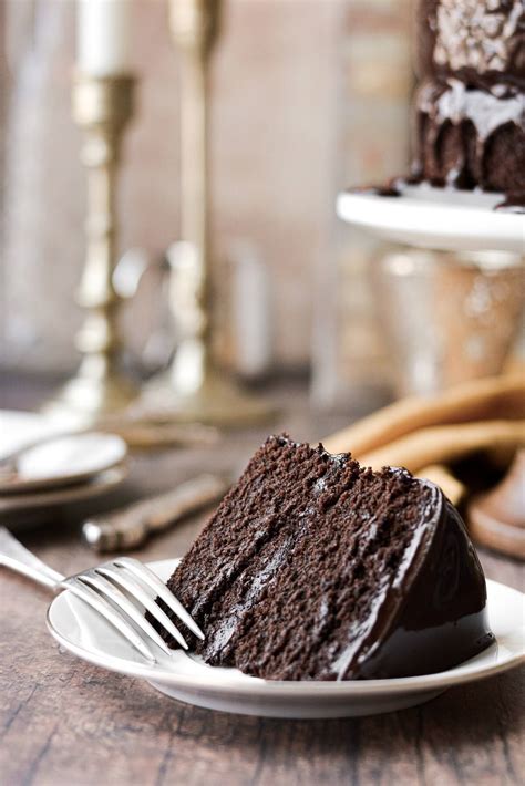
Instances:
[[[524,0],[420,0],[413,174],[525,197]]]

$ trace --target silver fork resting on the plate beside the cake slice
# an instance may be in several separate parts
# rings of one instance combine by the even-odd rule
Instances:
[[[162,598],[192,633],[204,639],[200,628],[153,570],[131,557],[117,557],[96,568],[65,577],[28,551],[6,527],[0,527],[0,565],[50,587],[55,592],[70,590],[97,611],[151,663],[156,662],[151,649],[152,642],[167,654],[171,654],[172,650],[146,620],[145,611],[187,650],[183,634],[161,609],[155,600],[157,597]]]

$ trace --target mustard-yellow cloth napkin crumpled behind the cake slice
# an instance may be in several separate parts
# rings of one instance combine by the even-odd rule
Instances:
[[[465,488],[446,467],[480,451],[525,445],[525,375],[474,380],[430,396],[402,399],[323,441],[366,466],[403,466],[437,483],[452,501]]]

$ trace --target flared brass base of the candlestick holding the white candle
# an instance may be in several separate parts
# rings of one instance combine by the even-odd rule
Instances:
[[[82,425],[103,422],[109,415],[122,414],[136,401],[138,389],[123,373],[106,373],[100,358],[85,358],[75,376],[42,406],[45,414],[74,415]]]

